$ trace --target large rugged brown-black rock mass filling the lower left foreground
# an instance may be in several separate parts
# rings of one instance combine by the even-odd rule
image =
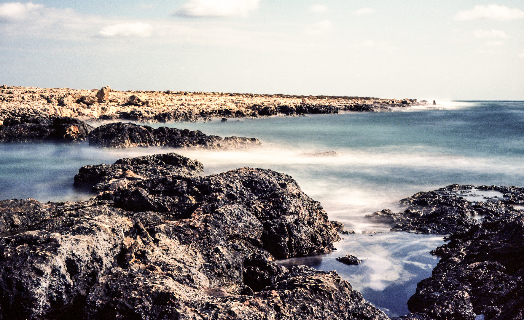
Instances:
[[[139,179],[79,203],[7,200],[0,215],[1,319],[387,319],[335,272],[272,262],[338,237],[271,170]]]

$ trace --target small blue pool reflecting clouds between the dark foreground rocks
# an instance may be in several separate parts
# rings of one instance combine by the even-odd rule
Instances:
[[[430,251],[442,245],[442,236],[406,232],[375,235],[346,235],[338,250],[324,255],[279,260],[286,267],[306,264],[315,269],[336,270],[353,289],[389,316],[409,313],[407,301],[417,283],[428,278],[438,263]],[[336,261],[347,254],[362,259],[358,266]]]

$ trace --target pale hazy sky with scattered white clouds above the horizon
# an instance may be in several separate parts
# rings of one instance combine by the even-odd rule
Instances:
[[[524,100],[524,2],[0,0],[0,84]]]

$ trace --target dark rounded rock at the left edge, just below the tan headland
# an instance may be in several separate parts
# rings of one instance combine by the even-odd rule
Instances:
[[[41,116],[34,113],[12,114],[0,125],[0,141],[85,141],[93,129],[79,119]]]

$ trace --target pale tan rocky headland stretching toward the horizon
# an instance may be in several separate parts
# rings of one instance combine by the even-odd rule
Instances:
[[[348,96],[294,96],[183,91],[114,91],[0,86],[0,121],[20,108],[45,115],[84,120],[133,120],[147,123],[230,117],[379,112],[418,104],[416,99]],[[3,116],[3,112],[4,115]]]

